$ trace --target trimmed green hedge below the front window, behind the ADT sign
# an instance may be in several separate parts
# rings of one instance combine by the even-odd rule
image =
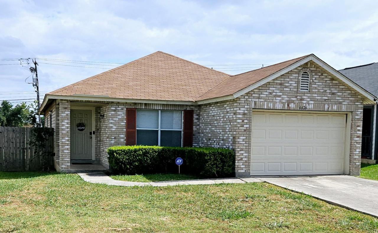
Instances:
[[[110,168],[122,174],[177,173],[175,159],[184,160],[180,172],[203,177],[234,175],[235,155],[223,148],[116,146],[108,148]]]

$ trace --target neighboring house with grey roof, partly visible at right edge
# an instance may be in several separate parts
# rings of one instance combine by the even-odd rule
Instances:
[[[378,96],[378,63],[370,63],[339,70],[350,80],[366,89],[374,96]],[[377,134],[377,106],[364,105],[362,126],[362,151],[363,162],[376,163],[378,161],[378,134]]]

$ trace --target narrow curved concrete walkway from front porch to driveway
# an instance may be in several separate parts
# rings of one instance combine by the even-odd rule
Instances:
[[[221,178],[221,179],[200,179],[200,180],[184,180],[184,181],[161,181],[161,182],[130,182],[130,181],[116,181],[102,172],[96,173],[77,173],[87,182],[94,184],[107,184],[117,186],[170,186],[170,185],[194,185],[194,184],[235,184],[235,183],[249,183],[262,182],[256,178]]]

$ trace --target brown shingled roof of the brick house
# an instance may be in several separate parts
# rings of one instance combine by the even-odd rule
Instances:
[[[234,94],[307,56],[230,76],[158,51],[47,94],[143,100],[212,99]]]

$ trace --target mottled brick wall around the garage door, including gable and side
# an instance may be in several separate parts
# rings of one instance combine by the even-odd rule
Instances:
[[[310,91],[299,91],[299,72],[311,72]],[[233,148],[235,173],[249,176],[252,109],[352,112],[350,174],[359,174],[363,99],[313,62],[305,63],[276,79],[249,91],[235,100],[201,105],[200,146]]]

